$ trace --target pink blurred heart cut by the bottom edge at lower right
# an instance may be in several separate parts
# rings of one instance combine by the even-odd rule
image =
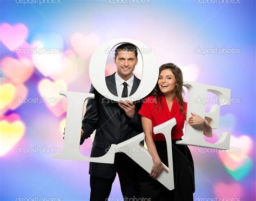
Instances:
[[[242,197],[242,186],[239,183],[224,183],[219,182],[214,185],[213,188],[214,195],[217,198],[222,198],[223,200],[233,200],[232,198]]]

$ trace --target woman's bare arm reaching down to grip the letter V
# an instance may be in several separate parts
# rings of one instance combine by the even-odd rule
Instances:
[[[154,163],[151,169],[150,176],[156,179],[161,171],[165,170],[166,172],[168,172],[168,170],[164,167],[163,163],[161,163],[161,160],[157,153],[156,145],[154,144],[152,138],[152,121],[142,116],[142,127],[145,134],[145,142]]]

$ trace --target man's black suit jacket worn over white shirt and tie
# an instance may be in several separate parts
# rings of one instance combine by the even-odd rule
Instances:
[[[140,80],[134,76],[130,95],[136,92]],[[116,80],[114,74],[106,77],[109,91],[117,96]],[[86,113],[82,122],[84,134],[80,144],[96,129],[95,139],[92,143],[91,157],[100,157],[106,154],[111,144],[118,144],[143,132],[138,111],[142,100],[134,103],[135,114],[130,119],[117,102],[106,99],[91,86],[90,93],[95,94],[94,99],[89,99]],[[125,164],[124,164],[125,165]],[[116,175],[114,164],[90,163],[89,174],[96,177],[111,178]]]

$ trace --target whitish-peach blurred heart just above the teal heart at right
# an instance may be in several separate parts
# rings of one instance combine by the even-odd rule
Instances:
[[[247,135],[235,137],[231,135],[230,149],[219,154],[220,161],[229,170],[236,170],[246,162],[253,147],[252,139]]]

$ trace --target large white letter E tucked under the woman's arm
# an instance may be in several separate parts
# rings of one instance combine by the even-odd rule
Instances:
[[[210,112],[205,112],[205,100],[207,100],[207,91],[216,94],[220,100],[227,100],[230,99],[231,90],[228,88],[203,85],[191,81],[185,81],[184,86],[188,89],[187,120],[191,116],[191,112],[197,113],[199,116],[203,118],[206,117],[211,120],[210,126],[212,129],[218,128],[220,106],[230,105],[230,103],[223,101],[220,103],[220,105],[213,105],[210,109]],[[223,133],[221,134],[218,142],[209,143],[205,141],[202,129],[198,129],[196,127],[193,128],[188,123],[186,123],[184,138],[181,141],[177,141],[176,144],[187,144],[206,148],[229,149],[230,133]]]

